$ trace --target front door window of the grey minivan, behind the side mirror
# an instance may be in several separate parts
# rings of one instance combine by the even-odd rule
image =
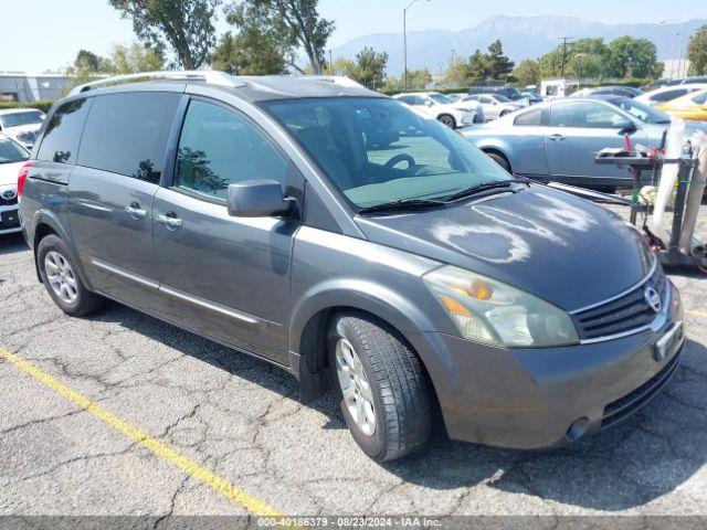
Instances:
[[[192,102],[179,139],[175,186],[219,199],[232,182],[274,179],[286,183],[287,162],[245,118]]]

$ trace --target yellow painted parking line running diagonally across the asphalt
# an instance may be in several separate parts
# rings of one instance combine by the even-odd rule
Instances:
[[[134,427],[125,420],[122,420],[118,416],[115,416],[114,414],[109,413],[105,409],[102,409],[89,399],[83,396],[78,392],[66,386],[64,383],[44,373],[42,370],[40,370],[38,367],[32,364],[31,362],[28,362],[21,357],[18,357],[1,348],[0,348],[0,358],[10,361],[12,364],[18,367],[19,369],[32,375],[40,383],[49,386],[54,392],[63,395],[68,401],[77,404],[83,410],[85,410],[89,414],[93,414],[95,417],[106,423],[118,433],[147,447],[157,456],[160,456],[163,459],[168,460],[170,464],[182,469],[184,473],[196,478],[197,480],[201,480],[203,484],[217,490],[218,492],[220,492],[231,501],[235,502],[236,505],[245,508],[251,513],[255,516],[261,516],[261,517],[281,516],[279,512],[277,512],[273,507],[268,506],[266,502],[250,496],[242,489],[236,488],[224,478],[219,477],[218,475],[210,471],[209,469],[201,466],[200,464],[196,463],[194,460],[187,458],[183,455],[180,455],[175,449],[170,448],[169,446],[165,445],[158,439],[144,433],[139,428]]]

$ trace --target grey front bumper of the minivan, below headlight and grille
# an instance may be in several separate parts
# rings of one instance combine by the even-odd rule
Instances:
[[[683,319],[673,286],[669,301],[648,330],[572,347],[506,350],[428,333],[443,360],[431,377],[450,437],[559,447],[630,416],[679,363],[682,328],[668,351],[656,354],[656,342]]]

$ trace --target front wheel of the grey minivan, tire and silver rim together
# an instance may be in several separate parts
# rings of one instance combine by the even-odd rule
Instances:
[[[399,333],[365,315],[340,315],[329,330],[328,353],[344,420],[368,456],[392,460],[426,443],[430,384]]]

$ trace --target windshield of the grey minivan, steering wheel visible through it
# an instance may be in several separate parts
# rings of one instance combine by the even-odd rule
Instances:
[[[265,103],[356,209],[513,180],[469,141],[388,98]]]

